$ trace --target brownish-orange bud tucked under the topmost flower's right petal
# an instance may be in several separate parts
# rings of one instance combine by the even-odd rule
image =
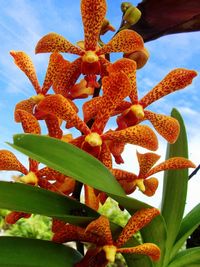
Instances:
[[[141,69],[149,59],[149,52],[146,48],[133,53],[125,53],[124,57],[134,60],[137,63],[137,69]]]

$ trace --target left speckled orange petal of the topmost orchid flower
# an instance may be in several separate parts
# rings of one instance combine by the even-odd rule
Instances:
[[[71,44],[62,35],[51,32],[43,36],[36,45],[35,53],[62,52],[82,55],[83,50]]]

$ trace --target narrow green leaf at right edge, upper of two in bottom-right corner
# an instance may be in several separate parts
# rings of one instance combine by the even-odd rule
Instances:
[[[177,251],[183,246],[187,238],[194,232],[200,224],[200,204],[194,207],[183,219],[181,227],[171,252],[171,259]]]

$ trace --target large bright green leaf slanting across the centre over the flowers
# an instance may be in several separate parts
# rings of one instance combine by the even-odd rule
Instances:
[[[150,207],[127,197],[114,176],[100,161],[71,144],[47,136],[20,134],[14,136],[14,145],[11,146],[65,175],[106,192],[131,213]]]

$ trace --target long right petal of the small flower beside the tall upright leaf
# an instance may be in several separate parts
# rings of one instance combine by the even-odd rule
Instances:
[[[176,169],[187,169],[187,168],[195,168],[194,163],[190,160],[182,158],[182,157],[174,157],[164,162],[158,164],[154,168],[152,168],[147,174],[146,177],[153,175],[154,173],[158,173],[160,171],[165,170],[176,170]]]

